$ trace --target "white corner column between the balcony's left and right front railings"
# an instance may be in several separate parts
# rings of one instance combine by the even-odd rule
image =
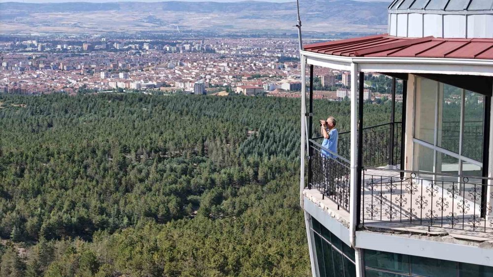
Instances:
[[[351,63],[351,189],[350,189],[350,225],[349,225],[349,241],[351,242],[351,246],[355,245],[355,232],[356,232],[356,209],[357,209],[357,129],[358,129],[358,75],[356,71],[356,63]]]

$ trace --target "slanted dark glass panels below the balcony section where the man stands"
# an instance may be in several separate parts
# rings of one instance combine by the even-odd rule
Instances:
[[[355,277],[354,249],[311,217],[313,250],[318,276]]]

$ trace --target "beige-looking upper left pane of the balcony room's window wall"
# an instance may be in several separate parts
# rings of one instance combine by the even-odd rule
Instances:
[[[435,108],[438,82],[419,78],[420,90],[416,95],[415,137],[434,144]]]

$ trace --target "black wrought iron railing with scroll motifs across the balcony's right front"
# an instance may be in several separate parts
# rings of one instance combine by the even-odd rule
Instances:
[[[493,219],[485,216],[493,210],[493,193],[487,195],[488,180],[491,179],[364,168],[361,223],[365,226],[388,222],[425,226],[428,231],[448,228],[493,233]]]

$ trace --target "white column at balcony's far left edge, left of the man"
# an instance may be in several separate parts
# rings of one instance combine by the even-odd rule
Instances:
[[[306,57],[301,55],[301,158],[300,158],[300,205],[303,209],[303,189],[305,188],[305,150],[306,150],[306,129],[305,129],[305,113],[306,113]]]

